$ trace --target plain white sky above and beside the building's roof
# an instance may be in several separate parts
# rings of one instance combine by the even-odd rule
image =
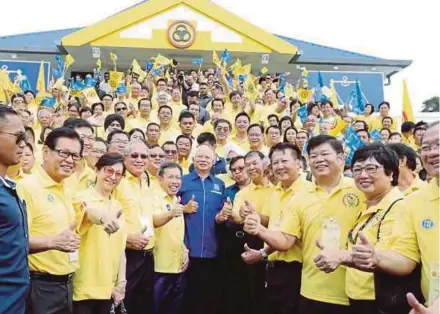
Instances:
[[[3,3],[0,36],[83,27],[139,0],[14,0]],[[385,98],[401,112],[406,79],[414,113],[440,96],[440,1],[215,0],[271,33],[388,59],[413,60],[391,78]],[[54,5],[56,3],[56,5]],[[72,5],[74,3],[75,5]],[[393,104],[395,104],[393,106]]]

